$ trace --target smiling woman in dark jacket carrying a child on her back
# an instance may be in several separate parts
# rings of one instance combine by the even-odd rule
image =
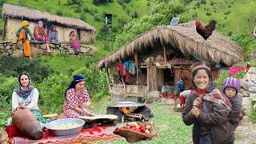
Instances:
[[[191,66],[193,92],[186,98],[183,122],[193,126],[195,144],[234,142],[233,126],[228,121],[230,101],[220,90],[214,90],[210,66],[196,62]]]

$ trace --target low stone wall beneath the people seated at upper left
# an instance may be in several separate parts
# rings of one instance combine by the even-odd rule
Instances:
[[[40,45],[38,43],[30,43],[32,56],[36,57],[37,55],[47,54],[46,45]],[[0,54],[9,55],[16,58],[23,57],[23,48],[22,43],[18,42],[0,42]],[[97,50],[97,47],[94,45],[82,45],[80,50],[75,53],[74,49],[68,44],[57,45],[50,43],[50,50],[54,51],[54,54],[69,54],[69,55],[93,55]]]

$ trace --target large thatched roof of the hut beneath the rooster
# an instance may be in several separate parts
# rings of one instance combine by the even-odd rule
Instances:
[[[244,60],[242,48],[225,38],[222,34],[218,34],[214,30],[213,34],[204,40],[197,33],[194,22],[187,22],[179,26],[158,26],[146,33],[139,35],[119,50],[107,55],[98,61],[94,68],[96,70],[103,67],[109,67],[114,62],[127,58],[134,52],[142,51],[142,49],[154,49],[154,43],[159,42],[162,46],[167,44],[178,48],[182,54],[191,54],[201,56],[208,62],[224,62],[227,66]]]

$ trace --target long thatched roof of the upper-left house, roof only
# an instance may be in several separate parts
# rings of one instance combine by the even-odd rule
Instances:
[[[4,3],[2,5],[2,18],[21,18],[29,19],[33,21],[46,20],[48,22],[57,22],[58,24],[64,26],[70,26],[74,28],[86,29],[86,30],[95,30],[93,26],[90,26],[88,23],[83,22],[78,18],[65,18],[58,15],[49,14],[42,12],[40,10],[34,10],[27,8],[25,6],[18,6],[10,3]]]

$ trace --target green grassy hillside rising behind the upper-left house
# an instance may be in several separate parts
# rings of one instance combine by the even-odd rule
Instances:
[[[0,2],[14,3],[21,6],[30,7],[36,10],[49,12],[50,14],[58,14],[64,17],[80,18],[94,26],[97,30],[104,25],[105,14],[113,14],[113,27],[117,30],[122,29],[124,23],[132,19],[134,11],[138,13],[138,18],[144,14],[150,14],[150,6],[147,6],[146,0],[132,0],[131,2],[123,2],[119,4],[117,0],[95,6],[93,0],[82,0],[82,4],[69,4],[68,0],[2,0]],[[2,7],[1,7],[2,8]],[[0,20],[2,28],[3,22]]]

